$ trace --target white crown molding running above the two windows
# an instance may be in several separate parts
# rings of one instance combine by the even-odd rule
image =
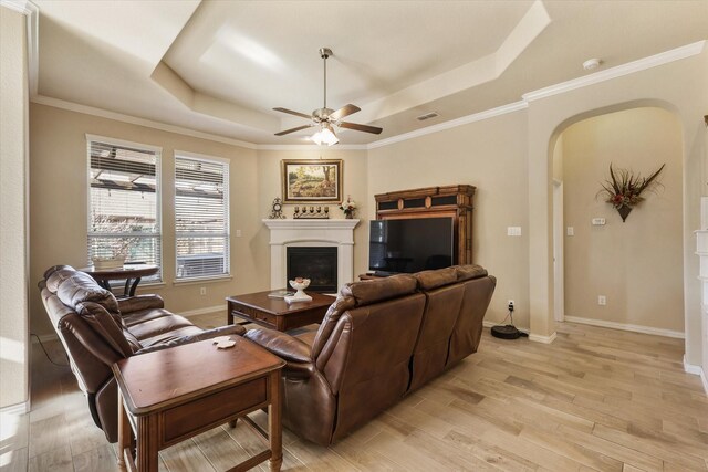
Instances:
[[[227,138],[225,136],[212,135],[210,133],[197,132],[195,129],[185,128],[176,125],[168,125],[166,123],[154,122],[152,119],[138,118],[136,116],[124,115],[123,113],[108,112],[107,109],[96,108],[87,105],[80,105],[73,102],[66,102],[59,98],[52,98],[44,95],[38,95],[30,99],[32,103],[39,105],[53,106],[54,108],[67,109],[70,112],[83,113],[86,115],[100,116],[102,118],[115,119],[116,122],[128,123],[131,125],[146,126],[148,128],[155,128],[168,133],[177,133],[185,136],[191,136],[200,139],[208,139],[217,143],[229,144],[232,146],[244,147],[247,149],[257,149],[257,145],[253,143],[247,143],[238,139]]]

